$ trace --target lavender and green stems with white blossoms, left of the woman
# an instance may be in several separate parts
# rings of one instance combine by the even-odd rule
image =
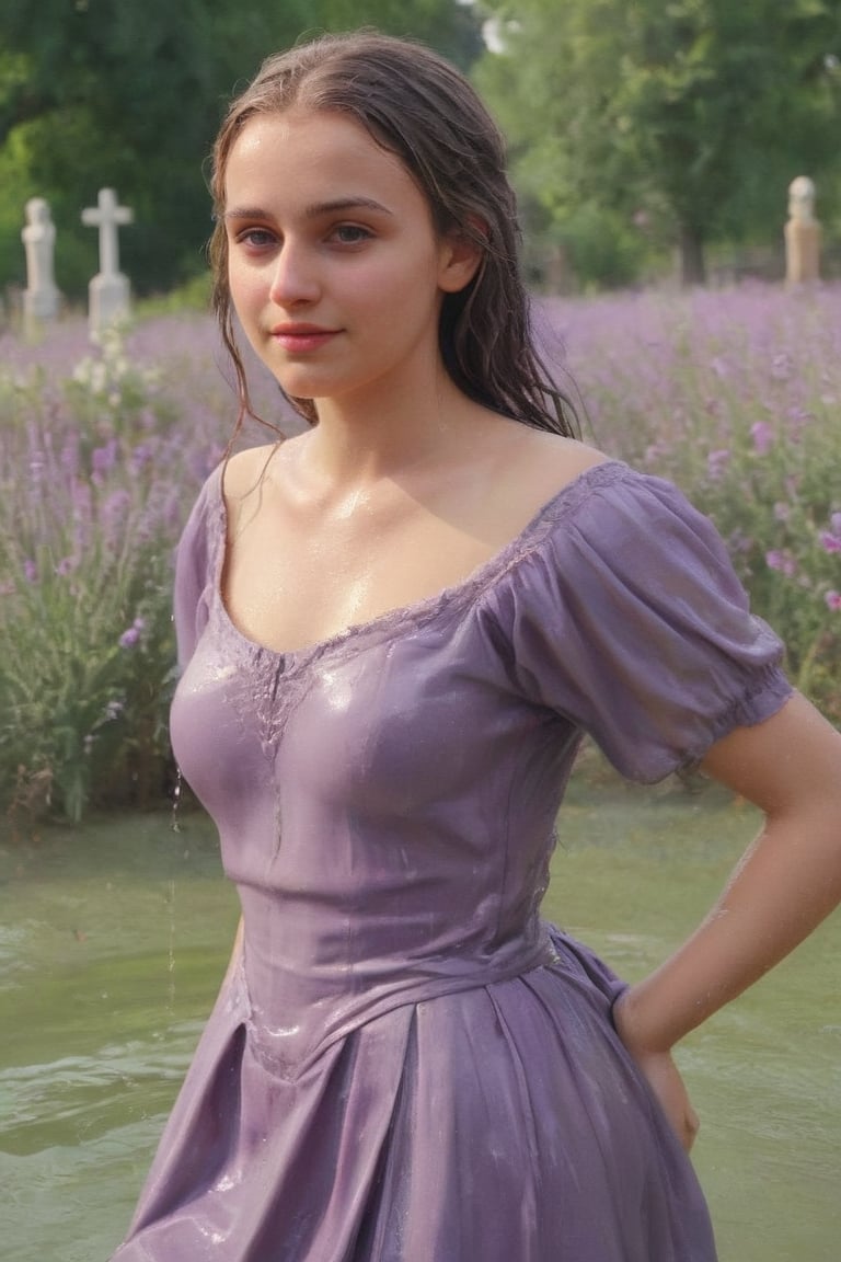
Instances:
[[[222,447],[202,389],[212,345],[199,345],[192,376],[170,323],[154,345],[163,369],[112,331],[69,372],[0,376],[6,805],[78,820],[91,804],[158,801],[171,776],[173,550]],[[216,410],[223,440],[227,390]]]

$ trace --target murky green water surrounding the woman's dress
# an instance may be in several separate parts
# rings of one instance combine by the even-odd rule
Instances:
[[[548,914],[638,977],[754,829],[715,791],[575,785]],[[236,916],[200,815],[0,835],[0,1258],[108,1257]],[[680,1049],[721,1262],[841,1258],[840,948],[836,916]]]

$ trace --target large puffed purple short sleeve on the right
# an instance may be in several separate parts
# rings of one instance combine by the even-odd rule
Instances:
[[[623,775],[653,782],[779,709],[783,645],[675,486],[617,462],[583,482],[502,598],[511,671]]]

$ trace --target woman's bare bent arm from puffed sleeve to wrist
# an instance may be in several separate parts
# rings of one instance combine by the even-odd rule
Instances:
[[[841,733],[803,697],[724,737],[702,770],[765,818],[699,929],[617,1005],[617,1029],[643,1068],[779,963],[841,901]]]

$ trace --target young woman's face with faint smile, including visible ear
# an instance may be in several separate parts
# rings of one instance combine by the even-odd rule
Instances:
[[[224,180],[231,297],[287,394],[369,400],[439,371],[444,293],[475,251],[440,239],[400,159],[343,114],[257,115]]]

